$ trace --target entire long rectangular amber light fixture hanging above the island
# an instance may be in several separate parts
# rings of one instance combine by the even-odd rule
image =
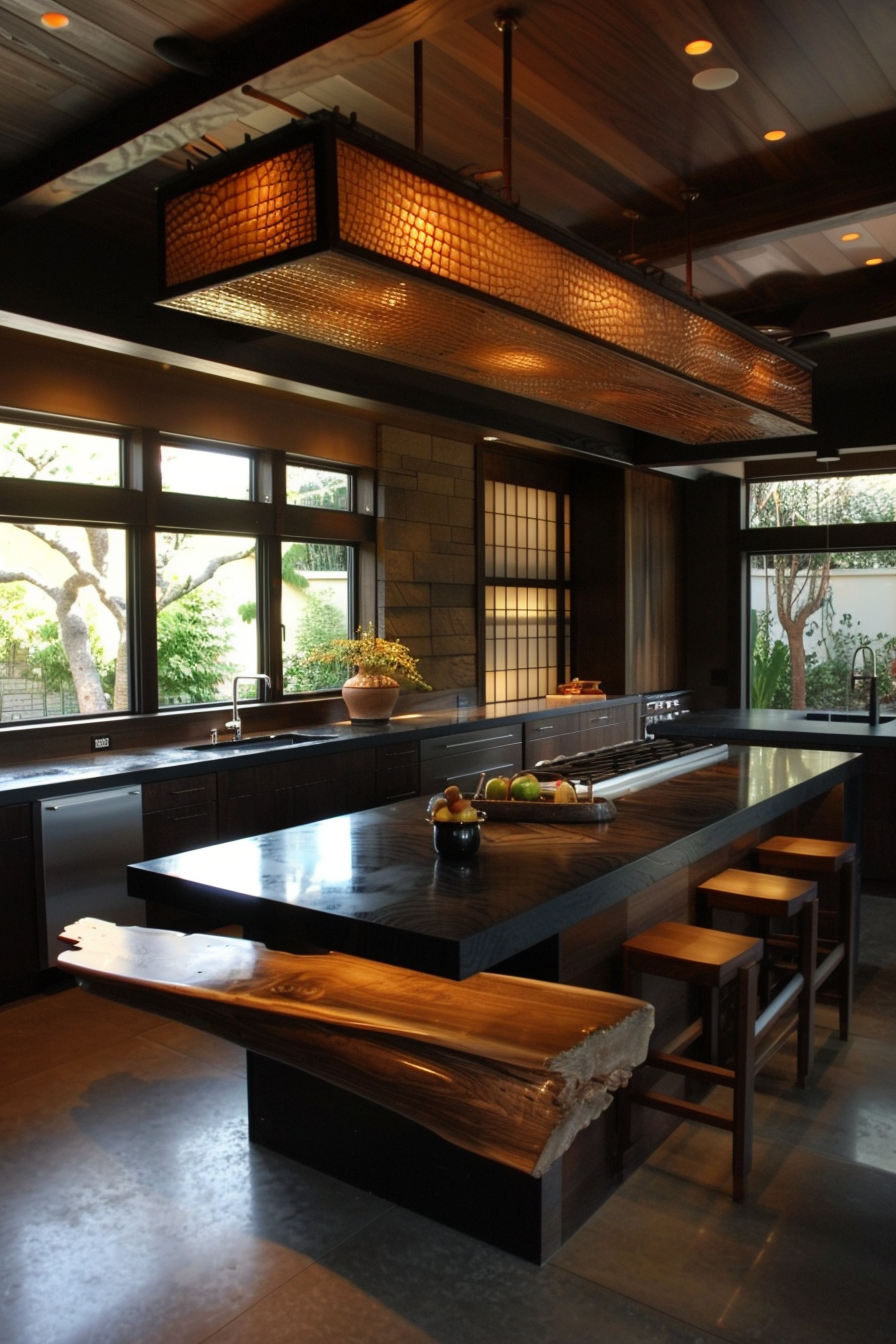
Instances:
[[[803,356],[333,114],[159,200],[165,306],[688,444],[811,433]]]

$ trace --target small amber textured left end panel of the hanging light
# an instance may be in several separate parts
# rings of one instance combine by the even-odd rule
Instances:
[[[300,145],[165,203],[165,284],[314,241],[314,148]]]

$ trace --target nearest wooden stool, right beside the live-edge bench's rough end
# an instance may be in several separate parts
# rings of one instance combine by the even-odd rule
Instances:
[[[693,925],[660,923],[622,945],[623,992],[631,991],[642,974],[684,980],[704,991],[704,1019],[692,1024],[672,1042],[668,1051],[649,1050],[646,1064],[668,1073],[699,1078],[705,1083],[720,1083],[733,1089],[731,1116],[695,1102],[669,1097],[665,1093],[637,1091],[634,1085],[617,1093],[619,1107],[619,1161],[631,1146],[631,1103],[696,1120],[703,1125],[725,1129],[732,1136],[731,1173],[733,1198],[743,1203],[747,1173],[752,1165],[752,1087],[755,1071],[756,984],[762,938],[743,938],[740,934],[697,929]],[[708,1024],[711,1011],[707,999],[727,984],[736,984],[735,1058],[732,1068],[717,1063],[689,1059],[678,1051],[697,1040]],[[715,1004],[713,1004],[715,1007]]]

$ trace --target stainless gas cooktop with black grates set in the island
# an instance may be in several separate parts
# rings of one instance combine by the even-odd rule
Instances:
[[[623,793],[646,789],[676,774],[724,761],[727,755],[728,747],[724,743],[647,738],[600,747],[598,751],[578,751],[571,757],[539,761],[535,769],[562,775],[584,797],[594,794],[602,798],[618,798]]]

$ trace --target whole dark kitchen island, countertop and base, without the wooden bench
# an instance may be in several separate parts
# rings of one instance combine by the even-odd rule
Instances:
[[[283,950],[617,991],[621,942],[658,919],[692,918],[695,887],[758,840],[854,839],[860,769],[850,753],[735,747],[618,798],[614,821],[486,823],[469,863],[435,855],[418,798],[134,864],[129,890],[199,917],[226,899],[250,937]],[[661,1031],[677,1028],[677,1001],[657,1011]],[[536,1262],[617,1180],[606,1118],[533,1179],[254,1052],[249,1111],[253,1140]],[[647,1117],[641,1153],[668,1128]]]

